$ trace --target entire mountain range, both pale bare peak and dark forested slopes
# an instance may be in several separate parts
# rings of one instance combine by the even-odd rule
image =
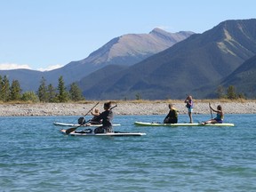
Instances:
[[[79,84],[87,100],[184,99],[187,94],[214,98],[219,85],[231,84],[255,98],[255,55],[256,20],[225,20],[202,34],[170,34],[156,28],[146,35],[119,36],[63,68],[16,69],[0,75],[15,72],[19,81],[26,76],[25,81],[35,81],[37,76],[34,89],[41,76],[51,83],[55,79],[55,84],[64,76],[65,83]]]

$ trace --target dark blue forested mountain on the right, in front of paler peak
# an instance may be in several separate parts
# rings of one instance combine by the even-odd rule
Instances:
[[[187,94],[212,98],[217,87],[228,86],[232,72],[240,67],[241,73],[244,61],[255,54],[256,20],[226,20],[130,68],[116,68],[98,82],[90,78],[102,71],[85,76],[80,85],[89,99],[181,99]],[[246,88],[243,91],[251,96]]]

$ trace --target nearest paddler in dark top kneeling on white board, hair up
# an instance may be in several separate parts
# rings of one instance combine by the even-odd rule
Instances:
[[[114,118],[113,111],[111,110],[111,101],[104,103],[104,111],[100,113],[99,116],[96,116],[94,121],[102,120],[102,126],[94,129],[94,133],[104,133],[104,132],[113,132],[111,121]]]

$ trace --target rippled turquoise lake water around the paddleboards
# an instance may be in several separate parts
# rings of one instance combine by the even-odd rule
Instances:
[[[0,117],[0,191],[256,190],[255,115],[226,115],[235,127],[175,128],[133,125],[164,116],[115,116],[116,131],[141,137],[70,137],[52,124],[78,117]]]

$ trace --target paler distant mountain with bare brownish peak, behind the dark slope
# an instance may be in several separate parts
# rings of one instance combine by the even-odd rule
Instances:
[[[116,37],[84,60],[72,61],[62,68],[44,72],[29,69],[0,70],[0,75],[7,75],[11,81],[19,80],[23,91],[36,91],[42,76],[48,84],[55,86],[60,76],[63,76],[65,84],[71,84],[108,65],[132,66],[192,34],[194,33],[190,31],[169,33],[155,28],[149,34],[128,34]]]

